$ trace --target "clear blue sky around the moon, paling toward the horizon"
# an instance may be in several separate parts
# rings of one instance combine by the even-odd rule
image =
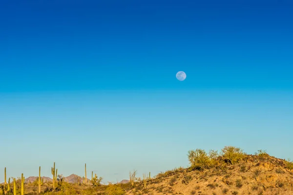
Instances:
[[[293,159],[292,19],[289,0],[1,0],[0,182],[230,145]]]

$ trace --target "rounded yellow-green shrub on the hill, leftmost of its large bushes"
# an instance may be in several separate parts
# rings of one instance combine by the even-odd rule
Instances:
[[[206,168],[210,162],[206,151],[202,149],[188,151],[188,160],[192,167],[197,168]]]

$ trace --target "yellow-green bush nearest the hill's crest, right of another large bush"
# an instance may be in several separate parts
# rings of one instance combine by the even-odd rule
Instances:
[[[231,164],[234,164],[241,161],[244,158],[245,153],[243,153],[243,150],[240,148],[225,146],[222,149],[222,156],[230,160]]]

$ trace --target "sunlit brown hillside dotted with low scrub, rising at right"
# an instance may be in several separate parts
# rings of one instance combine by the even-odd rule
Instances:
[[[217,158],[211,168],[161,173],[127,195],[293,195],[293,167],[273,156],[247,155],[239,163]],[[291,170],[290,170],[291,169]]]

